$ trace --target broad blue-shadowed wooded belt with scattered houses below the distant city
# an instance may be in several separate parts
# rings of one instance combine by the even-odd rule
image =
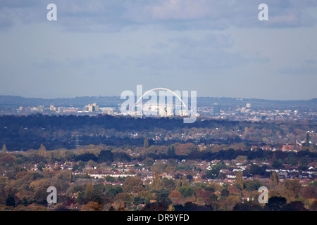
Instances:
[[[75,148],[77,136],[82,146],[100,143],[108,146],[142,146],[144,136],[147,135],[151,145],[169,145],[176,142],[199,142],[206,145],[244,143],[250,148],[255,143],[281,148],[283,144],[305,141],[306,131],[316,131],[316,127],[317,122],[314,120],[197,120],[193,124],[184,124],[180,118],[4,115],[0,117],[0,144],[6,144],[6,148],[11,151],[37,149],[41,143],[48,150],[72,149]],[[310,141],[316,143],[316,132],[310,134]]]

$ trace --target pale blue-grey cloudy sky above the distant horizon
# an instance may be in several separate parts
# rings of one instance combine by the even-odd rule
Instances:
[[[316,40],[316,0],[1,0],[0,95],[317,98]]]

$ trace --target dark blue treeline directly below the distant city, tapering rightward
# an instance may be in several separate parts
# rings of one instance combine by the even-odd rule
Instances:
[[[139,131],[143,129],[179,129],[179,128],[204,128],[204,127],[229,127],[237,124],[251,124],[251,122],[237,122],[228,120],[197,120],[192,124],[185,124],[181,118],[137,118],[137,117],[114,117],[111,115],[42,115],[34,114],[27,116],[3,115],[0,117],[0,126],[7,127],[11,131],[17,131],[21,126],[32,129],[42,127],[48,130],[63,129],[77,130],[84,126],[103,126],[107,129],[118,131]]]

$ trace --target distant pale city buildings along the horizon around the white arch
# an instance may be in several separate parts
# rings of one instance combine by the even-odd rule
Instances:
[[[1,98],[1,97],[0,97]],[[300,103],[300,102],[299,102]],[[44,115],[122,115],[120,113],[120,103],[116,106],[104,107],[98,103],[82,104],[81,107],[70,105],[25,105],[25,106],[4,106],[0,105],[0,114],[4,115],[30,115],[32,113],[42,113]],[[157,106],[156,108],[144,108],[144,115],[149,115],[151,111],[156,111],[157,117],[173,117],[175,107],[166,105],[165,108]],[[180,113],[186,116],[186,113]],[[302,105],[287,105],[285,103],[275,105],[259,105],[252,103],[212,103],[200,102],[197,107],[198,117],[209,117],[221,120],[247,120],[259,122],[263,120],[316,120],[317,107],[303,107]]]

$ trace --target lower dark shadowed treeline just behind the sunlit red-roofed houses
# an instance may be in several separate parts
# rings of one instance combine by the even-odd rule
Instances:
[[[317,159],[317,153],[312,153],[309,150],[302,150],[299,153],[289,153],[282,152],[277,150],[275,152],[265,151],[265,150],[233,150],[232,148],[228,150],[220,150],[218,152],[206,152],[206,151],[198,151],[192,150],[192,153],[189,155],[176,155],[173,153],[173,147],[169,146],[167,153],[144,153],[137,157],[131,157],[127,153],[124,152],[116,152],[111,150],[101,150],[99,155],[94,155],[92,153],[83,153],[80,155],[72,155],[68,157],[67,160],[73,161],[82,161],[88,162],[92,160],[94,162],[113,162],[113,161],[128,161],[131,160],[139,160],[140,162],[146,160],[236,160],[237,158],[245,158],[247,160],[261,160],[261,161],[271,161],[272,167],[275,169],[281,169],[284,165],[290,166],[299,166],[299,169],[305,170],[307,169],[307,165],[311,162],[315,162]],[[171,153],[172,152],[172,153]],[[221,167],[216,168],[215,171],[210,170],[210,174],[207,174],[207,177],[210,179],[218,179],[218,175]],[[216,175],[212,175],[216,174]],[[270,174],[266,173],[266,165],[259,167],[257,165],[253,165],[246,174],[260,175],[260,176],[269,176]]]

